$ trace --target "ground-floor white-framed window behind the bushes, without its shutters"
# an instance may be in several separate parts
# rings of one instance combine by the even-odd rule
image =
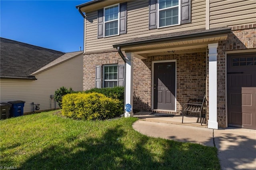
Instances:
[[[118,85],[118,65],[104,65],[103,71],[103,87],[116,87]]]

